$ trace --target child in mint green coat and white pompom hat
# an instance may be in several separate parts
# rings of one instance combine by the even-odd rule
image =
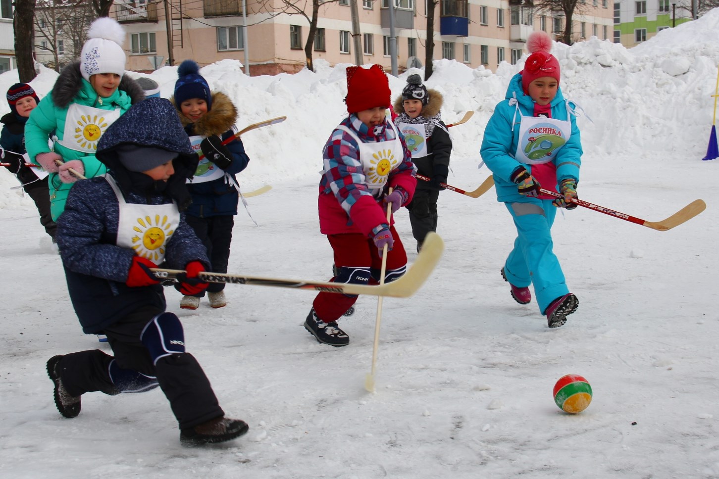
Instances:
[[[144,98],[142,88],[124,75],[124,39],[119,23],[96,19],[80,60],[63,69],[27,120],[25,146],[30,160],[50,173],[53,220],[63,213],[65,198],[78,180],[70,169],[88,178],[104,175],[104,165],[95,158],[99,139],[132,103]],[[52,134],[57,136],[54,151],[47,145]]]

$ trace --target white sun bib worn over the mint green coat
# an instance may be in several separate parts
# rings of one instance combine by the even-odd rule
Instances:
[[[58,143],[76,152],[95,154],[100,137],[119,117],[120,108],[101,110],[73,103],[65,116],[63,139]]]

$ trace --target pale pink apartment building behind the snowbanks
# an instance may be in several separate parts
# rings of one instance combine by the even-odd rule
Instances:
[[[656,0],[654,0],[656,1]],[[242,6],[246,4],[243,14]],[[608,0],[580,0],[572,40],[596,36],[613,40]],[[111,17],[128,32],[129,70],[153,70],[170,57],[201,65],[226,58],[249,59],[251,75],[295,73],[306,65],[303,50],[310,25],[300,14],[281,13],[279,0],[115,0]],[[311,17],[312,1],[299,2]],[[426,0],[395,0],[398,67],[425,59]],[[362,62],[390,69],[388,0],[357,0]],[[350,0],[319,4],[313,60],[354,63]],[[535,30],[564,31],[561,12],[537,11],[531,0],[440,0],[435,10],[434,59],[464,62],[470,68],[514,63]],[[167,32],[170,32],[168,34]]]

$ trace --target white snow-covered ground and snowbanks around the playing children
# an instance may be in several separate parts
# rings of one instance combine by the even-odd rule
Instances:
[[[32,202],[0,172],[3,477],[719,478],[719,159],[701,161],[718,30],[715,9],[632,50],[597,39],[555,47],[564,95],[592,119],[580,119],[580,197],[652,221],[697,198],[707,203],[663,233],[584,208],[558,215],[555,251],[580,308],[557,330],[547,329],[535,302],[516,304],[499,274],[515,231],[493,191],[477,199],[442,193],[446,251],[415,297],[384,300],[376,394],[363,387],[375,298],[361,297],[341,320],[351,343],[336,349],[302,327],[310,292],[229,286],[227,307],[188,312],[167,290],[221,405],[250,425],[216,447],[180,447],[159,390],[87,394],[79,417],[60,417],[45,361],[106,346],[82,334]],[[429,85],[445,95],[445,121],[475,111],[451,129],[450,184],[473,190],[489,175],[477,169],[482,131],[518,70],[437,62]],[[288,116],[244,137],[252,158],[240,175],[244,190],[273,190],[248,199],[259,227],[237,216],[230,271],[329,278],[317,171],[344,112],[344,68],[247,78],[225,60],[201,73],[232,96],[241,128]],[[175,75],[153,73],[162,96]],[[395,95],[404,78],[390,78]],[[54,80],[43,70],[32,85],[44,96]],[[16,81],[15,72],[0,75],[0,91]],[[397,218],[413,251],[408,218]],[[594,390],[577,415],[552,399],[567,373]]]

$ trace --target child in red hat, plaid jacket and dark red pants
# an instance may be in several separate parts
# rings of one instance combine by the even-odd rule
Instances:
[[[407,254],[387,222],[407,205],[414,193],[414,165],[401,134],[385,116],[390,87],[380,65],[347,68],[347,112],[324,145],[324,169],[319,184],[320,231],[334,251],[336,273],[332,282],[367,284],[380,279],[383,247],[388,246],[385,281],[404,274]],[[388,188],[392,192],[388,194]],[[305,321],[320,343],[349,344],[349,336],[336,320],[357,301],[357,296],[319,293]]]

